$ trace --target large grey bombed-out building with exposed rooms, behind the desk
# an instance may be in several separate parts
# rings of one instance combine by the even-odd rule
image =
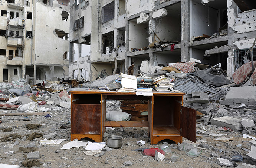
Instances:
[[[221,63],[231,77],[250,59],[255,17],[250,0],[71,1],[69,76],[88,81],[127,74],[132,64],[135,73],[153,73],[200,60]]]

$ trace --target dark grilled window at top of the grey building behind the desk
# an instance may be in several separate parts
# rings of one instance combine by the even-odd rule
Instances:
[[[114,19],[115,17],[115,1],[102,7],[102,23]]]

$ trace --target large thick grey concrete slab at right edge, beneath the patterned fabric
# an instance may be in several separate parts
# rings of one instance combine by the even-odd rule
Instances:
[[[256,87],[243,86],[231,87],[226,96],[220,98],[220,104],[225,105],[255,105],[256,103]]]

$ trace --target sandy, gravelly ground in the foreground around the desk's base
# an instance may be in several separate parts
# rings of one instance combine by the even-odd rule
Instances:
[[[0,114],[3,114],[6,110],[1,110]],[[5,113],[17,112],[15,110],[7,110]],[[246,157],[246,154],[250,150],[251,145],[248,142],[250,139],[245,139],[242,137],[241,132],[225,132],[216,131],[216,126],[206,125],[206,130],[214,133],[221,133],[223,137],[233,137],[234,140],[228,141],[226,143],[213,141],[214,138],[210,135],[200,134],[199,139],[205,139],[207,142],[201,142],[200,147],[206,148],[207,150],[202,150],[198,157],[189,157],[184,151],[178,150],[176,144],[168,144],[171,146],[171,153],[165,154],[165,159],[158,162],[154,157],[145,157],[142,151],[131,151],[132,149],[141,148],[137,145],[138,140],[144,140],[146,142],[144,148],[157,147],[162,145],[159,142],[157,145],[151,145],[147,135],[147,128],[135,128],[129,127],[124,128],[121,131],[119,127],[114,127],[115,130],[106,130],[109,135],[120,135],[123,137],[122,147],[119,149],[113,149],[112,151],[103,151],[102,156],[87,156],[83,153],[84,149],[82,147],[76,147],[72,149],[60,149],[64,144],[70,142],[70,110],[64,109],[62,111],[52,111],[49,112],[52,115],[51,118],[45,118],[42,116],[6,116],[1,118],[2,123],[0,124],[0,137],[5,137],[10,134],[21,135],[22,140],[17,140],[14,144],[14,140],[8,142],[0,141],[0,163],[22,165],[22,162],[26,160],[27,153],[19,151],[20,147],[26,148],[27,145],[32,145],[35,143],[35,150],[40,152],[40,158],[38,161],[42,164],[40,166],[34,167],[48,167],[48,168],[84,168],[84,167],[184,167],[184,168],[196,168],[196,167],[221,167],[217,163],[217,157],[222,157],[229,159],[235,155],[240,154],[243,156],[244,163],[256,165],[256,161],[252,161],[250,158]],[[47,114],[47,113],[46,113]],[[30,120],[30,121],[24,121]],[[38,130],[28,130],[25,128],[27,124],[45,124],[44,127],[40,127]],[[198,122],[197,129],[202,130],[203,122]],[[68,128],[60,128],[61,125],[66,125]],[[11,132],[2,132],[3,128],[11,127]],[[39,140],[43,140],[43,137],[35,138],[32,141],[27,140],[25,135],[37,133],[52,133],[56,132],[57,136],[53,139],[66,139],[61,144],[47,145],[43,146],[39,144]],[[106,137],[104,138],[106,142]],[[183,140],[186,142],[187,140]],[[127,145],[127,143],[130,145]],[[128,143],[128,144],[129,144]],[[14,144],[14,145],[12,145]],[[241,144],[242,147],[237,147],[236,145]],[[176,148],[176,149],[174,149]],[[221,149],[221,150],[220,150]],[[12,154],[5,154],[5,152],[14,151]],[[173,162],[171,159],[172,152],[176,152],[180,157],[177,161]],[[61,159],[66,157],[68,159]],[[131,166],[125,166],[123,163],[125,161],[133,162]],[[236,162],[233,162],[234,167]],[[21,166],[24,167],[24,166]]]

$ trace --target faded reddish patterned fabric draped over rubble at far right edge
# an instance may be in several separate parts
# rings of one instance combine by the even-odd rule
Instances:
[[[256,61],[253,61],[253,66],[256,67]],[[252,73],[252,62],[248,62],[244,65],[242,65],[238,70],[236,70],[233,74],[233,80],[236,84],[239,84],[243,82],[246,77],[249,77],[249,75]],[[253,79],[256,78],[256,68],[251,76]],[[256,80],[253,80],[253,84],[256,84]]]

